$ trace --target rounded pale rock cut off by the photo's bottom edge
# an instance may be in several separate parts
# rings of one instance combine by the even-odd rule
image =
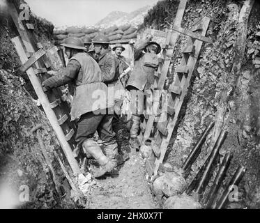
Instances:
[[[164,203],[164,209],[201,209],[201,205],[187,194],[174,195]]]

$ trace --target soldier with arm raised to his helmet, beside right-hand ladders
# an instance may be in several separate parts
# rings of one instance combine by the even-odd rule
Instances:
[[[151,91],[151,85],[154,83],[154,72],[158,68],[158,56],[161,47],[152,40],[152,36],[148,36],[146,40],[142,40],[135,44],[134,47],[134,70],[128,79],[126,89],[131,92],[131,108],[132,126],[130,129],[130,146],[139,150],[139,134],[140,120],[143,113],[143,103],[136,98],[137,95],[144,96],[144,91]],[[137,107],[137,109],[136,109]]]

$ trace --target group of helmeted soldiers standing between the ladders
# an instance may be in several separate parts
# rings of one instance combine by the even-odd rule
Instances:
[[[112,54],[107,36],[100,34],[93,40],[84,38],[83,41],[68,37],[61,44],[68,57],[66,68],[43,82],[44,91],[69,83],[75,86],[71,107],[71,120],[77,123],[75,140],[84,153],[91,155],[100,165],[93,172],[96,178],[111,173],[117,166],[118,144],[112,122],[120,113],[123,94],[109,95],[109,86],[114,88],[114,92],[135,91],[134,95],[151,91],[154,72],[158,68],[157,54],[161,51],[160,45],[151,40],[152,36],[148,36],[135,44],[132,68],[131,61],[121,55],[125,50],[123,45],[114,45]],[[93,96],[97,91],[102,92],[103,103],[97,103],[97,97]],[[137,105],[138,98],[132,96],[131,104]],[[111,108],[114,114],[108,111]],[[142,111],[138,105],[135,108],[131,111],[130,147],[138,151],[137,135]],[[105,153],[94,137],[95,132],[102,140]]]

